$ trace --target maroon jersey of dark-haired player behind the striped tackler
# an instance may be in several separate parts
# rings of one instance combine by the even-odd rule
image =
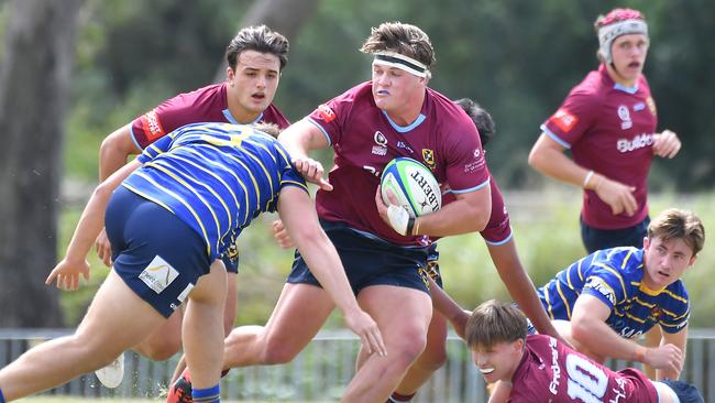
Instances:
[[[134,119],[130,126],[134,144],[144,150],[175,129],[189,123],[239,123],[229,111],[226,83],[213,84],[191,92],[179,94]],[[275,123],[280,129],[290,123],[273,104],[252,122]]]

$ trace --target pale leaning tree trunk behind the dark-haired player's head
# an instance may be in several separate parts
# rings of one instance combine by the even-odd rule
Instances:
[[[255,0],[241,21],[241,28],[265,24],[293,42],[300,28],[316,13],[319,0]],[[228,43],[227,43],[228,44]],[[226,79],[226,59],[221,59],[213,80]]]

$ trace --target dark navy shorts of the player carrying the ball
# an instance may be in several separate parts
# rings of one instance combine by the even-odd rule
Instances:
[[[355,295],[371,285],[396,285],[429,293],[422,269],[427,265],[427,248],[395,246],[340,222],[320,221],[320,225],[336,246]],[[320,286],[298,251],[287,282]]]

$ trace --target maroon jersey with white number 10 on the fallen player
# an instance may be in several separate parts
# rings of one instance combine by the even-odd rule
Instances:
[[[642,372],[615,372],[546,335],[527,336],[512,383],[512,403],[658,402],[656,388]]]

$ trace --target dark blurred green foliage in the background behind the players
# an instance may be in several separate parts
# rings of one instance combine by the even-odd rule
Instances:
[[[162,100],[208,84],[250,3],[156,0],[146,12],[140,0],[87,0],[68,123],[70,174],[95,178],[105,135]],[[431,87],[474,98],[494,116],[503,138],[490,146],[499,155],[490,161],[495,176],[504,187],[534,188],[544,182],[526,164],[539,126],[596,68],[592,24],[613,7],[635,7],[647,17],[652,45],[646,74],[659,130],[676,131],[684,143],[675,160],[656,159],[651,187],[712,188],[715,52],[706,52],[711,45],[701,39],[715,32],[715,2],[706,0],[323,0],[292,39],[276,104],[292,120],[300,119],[370,78],[370,58],[358,48],[371,26],[415,23],[437,50]]]

